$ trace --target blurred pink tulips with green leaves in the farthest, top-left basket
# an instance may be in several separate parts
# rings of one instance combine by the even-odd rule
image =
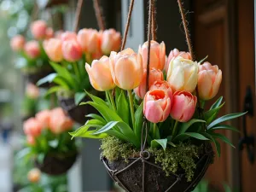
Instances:
[[[49,69],[49,58],[44,52],[43,41],[54,36],[53,29],[47,26],[44,20],[36,20],[31,25],[32,37],[34,39],[27,41],[17,35],[11,39],[11,48],[20,54],[17,67],[24,73],[37,73]]]

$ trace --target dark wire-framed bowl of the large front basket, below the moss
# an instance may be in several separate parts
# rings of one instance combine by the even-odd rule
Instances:
[[[139,158],[129,159],[129,163],[125,160],[110,162],[104,157],[101,157],[101,160],[110,177],[128,192],[190,192],[207,172],[213,157],[212,145],[204,144],[200,158],[196,161],[195,174],[191,182],[187,181],[182,169],[166,176],[166,172],[155,164],[154,156],[150,156],[148,151],[141,153]]]

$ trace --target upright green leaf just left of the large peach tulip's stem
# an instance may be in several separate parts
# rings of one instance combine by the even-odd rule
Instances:
[[[129,125],[129,104],[125,97],[124,91],[121,91],[119,94],[119,99],[117,102],[117,113],[119,114],[120,118],[125,121],[126,124]]]

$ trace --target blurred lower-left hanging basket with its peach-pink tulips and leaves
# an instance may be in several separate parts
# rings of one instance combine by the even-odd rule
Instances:
[[[23,124],[27,157],[34,156],[42,172],[53,175],[67,172],[77,155],[76,143],[67,134],[72,129],[73,120],[61,108],[38,112],[35,118],[27,119]],[[65,160],[68,163],[63,163]],[[60,162],[67,167],[56,165]]]

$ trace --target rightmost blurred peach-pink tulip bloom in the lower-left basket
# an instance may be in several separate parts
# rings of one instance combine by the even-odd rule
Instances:
[[[49,130],[55,134],[73,128],[73,120],[67,117],[62,108],[52,109],[50,112]]]

